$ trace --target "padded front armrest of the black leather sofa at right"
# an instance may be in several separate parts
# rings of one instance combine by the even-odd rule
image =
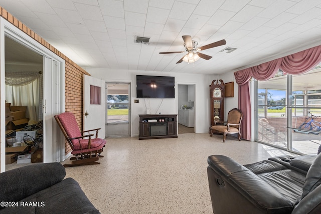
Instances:
[[[240,195],[239,198],[234,198],[233,204],[238,203],[238,200],[242,201],[243,198],[246,198],[248,204],[251,204],[250,206],[259,207],[259,210],[266,211],[266,209],[270,207],[278,207],[277,209],[283,211],[292,210],[293,202],[285,198],[278,190],[274,189],[258,175],[237,163],[235,160],[223,155],[212,155],[209,156],[208,163],[209,168],[214,171],[213,174],[216,174],[216,177],[209,177],[212,203],[213,197],[215,197],[214,189],[220,188],[220,191],[222,191],[222,188],[227,186],[226,195],[236,195],[236,193]],[[220,187],[216,187],[215,185],[217,184],[215,183],[220,185]],[[242,206],[246,207],[247,205],[244,203],[239,204],[239,207]]]

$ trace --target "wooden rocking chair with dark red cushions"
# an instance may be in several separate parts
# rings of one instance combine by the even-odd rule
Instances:
[[[100,164],[96,161],[99,157],[103,157],[100,153],[106,144],[106,140],[98,138],[98,130],[101,128],[80,132],[76,118],[71,112],[64,112],[54,117],[72,149],[71,154],[74,155],[71,164],[64,166]],[[90,134],[91,131],[96,131],[95,138],[92,138],[94,134]],[[83,135],[85,132],[88,134]]]

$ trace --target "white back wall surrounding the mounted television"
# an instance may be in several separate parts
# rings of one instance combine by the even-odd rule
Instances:
[[[175,99],[138,99],[139,103],[134,103],[136,98],[136,75],[174,76],[176,88],[178,84],[195,84],[195,132],[206,133],[210,126],[210,90],[209,85],[218,75],[185,74],[173,72],[146,72],[84,68],[93,77],[105,80],[106,82],[126,82],[131,84],[131,136],[138,136],[138,114],[146,114],[146,107],[150,109],[150,114],[177,114],[177,90]]]

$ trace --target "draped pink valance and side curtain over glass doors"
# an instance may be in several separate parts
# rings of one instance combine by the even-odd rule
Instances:
[[[288,74],[302,74],[321,62],[321,46],[316,46],[286,57],[272,60],[251,68],[234,72],[236,83],[239,85],[239,109],[243,112],[242,138],[251,139],[251,99],[249,80],[268,80],[281,69]]]

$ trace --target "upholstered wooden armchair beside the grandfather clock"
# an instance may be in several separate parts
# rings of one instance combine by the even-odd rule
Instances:
[[[211,126],[210,133],[211,137],[213,136],[213,132],[222,133],[223,134],[223,142],[225,142],[225,138],[227,134],[238,134],[239,140],[241,140],[241,121],[243,114],[240,109],[233,108],[229,111],[227,115],[226,125],[216,125],[216,121],[214,121],[214,126]]]

